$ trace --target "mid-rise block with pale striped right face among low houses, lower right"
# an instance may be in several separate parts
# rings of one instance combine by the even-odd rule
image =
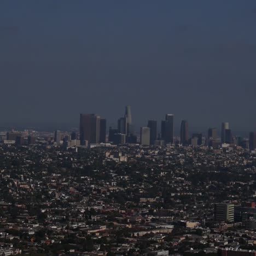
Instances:
[[[234,222],[234,209],[232,203],[217,203],[214,208],[214,217],[218,222]]]

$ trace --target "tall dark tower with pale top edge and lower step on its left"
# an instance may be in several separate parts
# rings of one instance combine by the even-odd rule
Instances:
[[[174,115],[166,114],[165,121],[161,122],[161,139],[165,143],[173,143]]]

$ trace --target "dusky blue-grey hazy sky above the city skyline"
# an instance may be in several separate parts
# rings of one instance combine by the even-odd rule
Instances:
[[[255,0],[0,1],[0,126],[175,115],[256,131]]]

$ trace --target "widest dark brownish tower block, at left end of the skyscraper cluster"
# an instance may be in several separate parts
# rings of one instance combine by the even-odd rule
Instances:
[[[85,141],[91,144],[100,142],[100,121],[101,118],[95,114],[80,114],[80,142]]]

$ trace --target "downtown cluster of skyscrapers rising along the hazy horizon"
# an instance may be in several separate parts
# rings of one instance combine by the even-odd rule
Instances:
[[[120,117],[117,127],[109,127],[107,135],[107,122],[99,115],[80,114],[80,144],[97,144],[106,141],[113,144],[137,143],[137,136],[133,131],[131,106],[125,107],[124,117]],[[108,137],[108,139],[106,139]],[[187,120],[182,120],[180,136],[174,137],[174,115],[166,114],[165,120],[161,121],[161,132],[158,133],[158,123],[156,120],[148,120],[145,127],[141,127],[139,142],[142,145],[182,144],[183,146],[218,146],[219,144],[242,144],[241,137],[234,141],[229,123],[222,123],[220,139],[217,136],[217,129],[208,129],[208,135],[203,138],[202,133],[193,133],[189,137],[189,125]],[[256,148],[256,132],[251,132],[249,136],[249,149]]]

